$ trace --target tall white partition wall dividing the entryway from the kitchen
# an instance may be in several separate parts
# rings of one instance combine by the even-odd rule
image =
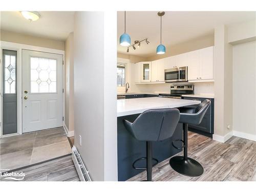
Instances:
[[[114,12],[75,13],[75,146],[94,181],[117,180],[115,39]]]

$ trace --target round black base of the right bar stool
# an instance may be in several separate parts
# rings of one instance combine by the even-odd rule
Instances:
[[[183,156],[175,156],[169,163],[176,172],[185,176],[198,177],[204,173],[202,165],[189,157],[185,160]]]

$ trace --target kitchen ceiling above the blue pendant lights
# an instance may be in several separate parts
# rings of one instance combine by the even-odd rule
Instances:
[[[160,17],[158,11],[126,11],[126,33],[131,41],[148,38],[136,50],[119,45],[119,37],[124,32],[124,12],[117,13],[117,52],[148,57],[156,54],[160,44]],[[173,46],[190,39],[214,34],[216,26],[244,22],[255,19],[256,12],[235,11],[167,11],[162,16],[162,44]]]

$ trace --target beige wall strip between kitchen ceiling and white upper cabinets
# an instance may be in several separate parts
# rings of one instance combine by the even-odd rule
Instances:
[[[206,47],[214,46],[214,34],[201,36],[189,41],[181,42],[180,44],[166,47],[166,53],[163,55],[154,54],[147,58],[147,61],[153,61],[173,55],[178,55],[181,53],[186,53],[189,51],[194,51]]]

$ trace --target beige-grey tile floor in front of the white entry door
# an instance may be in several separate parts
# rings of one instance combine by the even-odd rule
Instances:
[[[0,138],[0,169],[17,169],[71,153],[63,127]]]

